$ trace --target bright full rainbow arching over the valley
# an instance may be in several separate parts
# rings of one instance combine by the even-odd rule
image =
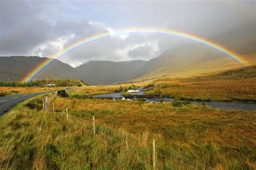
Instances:
[[[79,47],[82,47],[84,45],[90,44],[92,42],[96,42],[97,40],[102,40],[105,38],[110,38],[111,36],[115,35],[127,35],[131,33],[150,33],[154,35],[164,35],[164,36],[175,36],[179,38],[184,38],[191,40],[193,42],[200,43],[202,45],[208,46],[211,49],[215,51],[219,51],[220,53],[223,53],[225,56],[230,57],[231,59],[234,59],[235,61],[246,65],[245,60],[243,60],[239,55],[232,52],[231,50],[228,50],[226,47],[221,46],[217,43],[211,42],[210,40],[207,40],[202,37],[194,36],[189,33],[171,30],[171,29],[164,29],[164,28],[129,28],[129,29],[120,29],[120,30],[114,30],[114,32],[105,31],[102,33],[97,33],[96,35],[88,36],[83,39],[78,40],[76,43],[73,43],[69,46],[66,46],[63,50],[57,51],[56,53],[53,53],[49,57],[49,59],[45,59],[42,63],[39,63],[36,67],[34,67],[28,74],[26,74],[25,77],[21,79],[21,81],[31,81],[33,78],[35,78],[39,73],[41,73],[46,67],[48,67],[51,63],[55,61],[55,59],[66,55],[67,53],[70,53],[74,50],[77,50]]]

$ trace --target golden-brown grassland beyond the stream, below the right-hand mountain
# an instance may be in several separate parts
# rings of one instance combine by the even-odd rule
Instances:
[[[206,76],[171,79],[160,78],[147,94],[165,94],[170,98],[203,101],[256,102],[256,66],[207,74]]]

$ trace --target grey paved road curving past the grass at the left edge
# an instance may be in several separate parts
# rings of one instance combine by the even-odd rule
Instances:
[[[31,97],[38,96],[40,94],[51,93],[53,91],[48,92],[39,92],[39,93],[27,93],[27,94],[16,94],[10,96],[0,97],[0,116],[3,115],[5,112],[8,112],[11,107],[29,99]]]

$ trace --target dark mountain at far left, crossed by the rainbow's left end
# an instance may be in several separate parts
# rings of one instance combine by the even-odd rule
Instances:
[[[19,75],[26,75],[39,63],[42,63],[46,57],[37,57],[37,56],[11,56],[11,57],[0,57],[0,70],[5,72],[13,72]],[[73,78],[77,79],[76,70],[70,65],[60,62],[60,60],[55,59],[55,61],[42,71],[41,74],[36,77],[36,79],[42,79],[45,77],[48,78],[59,78],[59,79],[68,79]],[[19,81],[24,76],[10,76],[9,74],[0,74],[0,81]]]

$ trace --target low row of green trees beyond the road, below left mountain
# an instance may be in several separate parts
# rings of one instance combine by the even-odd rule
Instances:
[[[82,86],[80,81],[74,80],[74,79],[48,79],[47,83],[48,84],[55,84],[55,87]],[[83,83],[83,81],[82,81],[82,83]],[[33,87],[33,86],[44,87],[45,85],[46,85],[46,79],[34,80],[34,81],[23,82],[23,83],[20,83],[20,82],[0,82],[0,86],[5,86],[5,87]]]

